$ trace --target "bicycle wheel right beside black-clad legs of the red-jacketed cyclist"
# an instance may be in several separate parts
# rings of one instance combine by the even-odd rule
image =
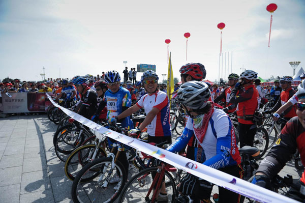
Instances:
[[[256,159],[259,159],[264,156],[268,148],[268,143],[268,132],[263,127],[258,127],[253,142],[253,147],[256,147],[260,151],[260,154],[255,157]]]

